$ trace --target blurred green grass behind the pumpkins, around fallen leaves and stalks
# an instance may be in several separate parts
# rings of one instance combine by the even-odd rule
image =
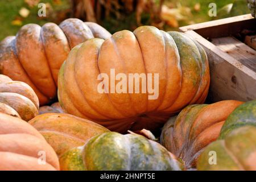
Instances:
[[[61,11],[64,9],[69,9],[69,0],[61,0],[61,5],[55,5],[53,3],[54,0],[42,0],[40,2],[51,3],[54,11]],[[234,2],[234,0],[166,0],[166,2],[172,3],[181,3],[182,6],[190,7],[192,10],[192,16],[188,17],[188,20],[185,22],[179,22],[179,26],[185,26],[188,22],[200,23],[207,22],[212,20],[212,18],[208,15],[209,11],[209,3],[216,3],[217,10],[220,10],[221,7],[227,5],[228,3]],[[245,1],[245,0],[237,0],[237,1]],[[200,11],[193,10],[193,7],[196,3],[200,3],[201,9]],[[22,25],[15,26],[11,22],[19,16],[19,10],[21,7],[26,7],[30,10],[30,15],[27,18],[22,19]],[[37,16],[38,7],[33,7],[30,9],[28,5],[24,2],[24,0],[5,0],[0,1],[0,41],[9,35],[15,35],[21,26],[27,23],[37,23],[43,25],[46,22],[51,22],[53,19],[46,18],[40,19]],[[59,18],[60,14],[57,14],[56,18]],[[147,15],[143,15],[142,22],[146,23],[148,19]],[[57,22],[58,23],[58,22]],[[135,22],[135,14],[131,14],[127,16],[122,22],[118,22],[115,19],[109,19],[102,22],[102,25],[108,29],[110,32],[115,32],[123,29],[133,30],[136,26]],[[168,29],[168,27],[167,27]],[[170,30],[170,28],[168,29]],[[171,30],[174,30],[172,28]]]

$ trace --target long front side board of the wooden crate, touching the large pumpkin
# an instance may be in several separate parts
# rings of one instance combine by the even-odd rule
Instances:
[[[185,34],[197,40],[207,52],[210,66],[209,98],[221,100],[250,101],[256,99],[256,73],[234,57],[221,51],[195,31]]]

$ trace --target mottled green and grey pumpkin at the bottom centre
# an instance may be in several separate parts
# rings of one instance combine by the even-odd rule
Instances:
[[[74,165],[76,164],[76,165]],[[182,164],[159,143],[141,135],[105,133],[60,158],[62,170],[180,170]]]

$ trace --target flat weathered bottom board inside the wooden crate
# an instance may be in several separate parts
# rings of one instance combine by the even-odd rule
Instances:
[[[232,36],[212,39],[211,42],[240,61],[246,67],[256,72],[256,51]]]

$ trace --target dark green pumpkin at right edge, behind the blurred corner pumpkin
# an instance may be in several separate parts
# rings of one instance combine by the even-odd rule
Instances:
[[[229,115],[221,129],[220,139],[225,138],[230,131],[244,125],[256,126],[256,100],[242,104]]]

